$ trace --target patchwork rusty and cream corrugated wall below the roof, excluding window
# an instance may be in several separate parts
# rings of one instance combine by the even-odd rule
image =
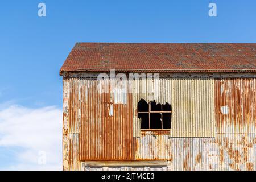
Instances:
[[[173,170],[256,169],[255,78],[122,83],[131,86],[131,94],[102,94],[101,84],[95,78],[63,80],[65,170],[93,169],[82,166],[83,160],[168,160]],[[135,114],[141,98],[172,105],[170,134],[141,132]]]

